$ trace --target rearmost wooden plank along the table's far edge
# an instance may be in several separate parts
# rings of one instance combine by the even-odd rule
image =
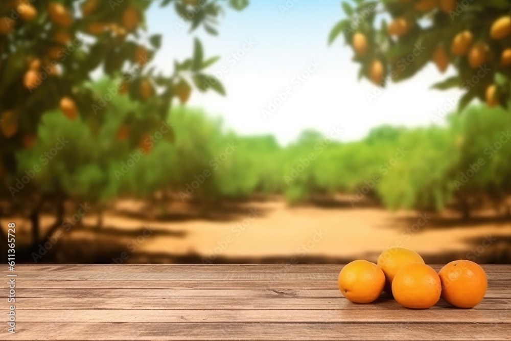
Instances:
[[[435,270],[439,270],[444,265],[433,264]],[[486,272],[511,272],[511,265],[481,265]],[[107,264],[107,265],[94,265],[94,264],[69,264],[69,265],[39,265],[39,264],[20,264],[16,265],[16,273],[20,272],[123,272],[132,274],[142,274],[151,272],[174,272],[181,274],[256,274],[256,273],[326,273],[337,272],[342,269],[343,265],[329,265],[329,264],[273,264],[273,265],[254,265],[254,264],[238,264],[238,265],[222,265],[222,264],[208,264],[208,265],[168,265],[168,264]],[[2,272],[6,272],[2,269]]]

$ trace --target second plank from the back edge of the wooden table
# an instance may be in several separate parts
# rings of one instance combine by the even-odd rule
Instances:
[[[511,281],[511,272],[488,272],[490,280],[508,280]],[[180,274],[170,270],[166,272],[145,272],[134,274],[130,272],[81,272],[67,271],[59,272],[26,272],[18,273],[18,278],[22,280],[61,280],[61,281],[77,281],[77,280],[109,280],[109,281],[163,281],[163,280],[181,280],[181,281],[336,281],[339,274],[337,272],[319,272],[311,273],[255,273],[255,274],[233,274],[233,273],[211,273],[211,274]]]

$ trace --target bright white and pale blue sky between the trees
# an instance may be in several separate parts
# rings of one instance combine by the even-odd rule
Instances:
[[[430,63],[385,89],[358,80],[359,66],[343,37],[327,43],[343,16],[339,0],[251,0],[241,12],[226,11],[218,36],[203,29],[190,33],[170,8],[152,7],[147,22],[150,33],[164,37],[153,61],[160,70],[170,73],[175,59],[190,57],[194,36],[206,56],[221,57],[207,71],[220,78],[227,96],[195,91],[188,105],[221,117],[239,134],[273,134],[286,145],[305,129],[326,135],[341,129],[339,140],[354,141],[384,124],[442,124],[434,118],[455,105],[460,90],[430,87],[454,70],[443,75]]]

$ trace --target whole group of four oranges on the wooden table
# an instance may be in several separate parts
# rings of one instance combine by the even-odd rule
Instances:
[[[344,297],[355,303],[370,303],[383,291],[402,306],[427,309],[443,298],[459,308],[472,308],[484,298],[488,282],[482,267],[468,260],[457,260],[438,273],[416,252],[392,247],[377,264],[356,260],[345,265],[338,279]]]

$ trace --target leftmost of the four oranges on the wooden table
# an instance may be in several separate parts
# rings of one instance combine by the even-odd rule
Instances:
[[[383,292],[385,275],[375,263],[356,260],[342,268],[337,283],[346,299],[355,303],[369,303]]]

